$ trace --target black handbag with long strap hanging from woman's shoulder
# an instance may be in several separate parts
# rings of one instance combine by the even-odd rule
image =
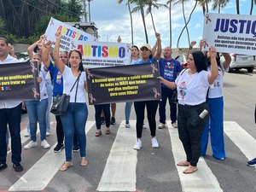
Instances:
[[[73,90],[74,85],[77,82],[79,82],[80,74],[79,74],[78,79],[73,84],[71,90],[69,91],[69,94]],[[79,86],[79,83],[77,84],[77,90],[76,90],[76,96],[75,97],[77,97],[78,86]],[[69,100],[70,100],[70,96],[67,95],[66,93],[64,93],[62,96],[60,96],[60,95],[56,96],[55,100],[53,101],[52,107],[50,108],[50,113],[54,113],[55,115],[65,115],[67,113]]]

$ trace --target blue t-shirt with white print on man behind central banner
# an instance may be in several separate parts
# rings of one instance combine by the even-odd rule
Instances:
[[[182,67],[179,61],[174,59],[166,60],[160,58],[159,61],[160,76],[168,81],[174,82],[177,79],[177,73],[182,71]],[[161,84],[162,87],[166,87],[165,84]]]

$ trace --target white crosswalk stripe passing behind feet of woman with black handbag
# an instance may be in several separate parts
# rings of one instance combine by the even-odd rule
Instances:
[[[85,132],[90,131],[90,128],[95,124],[94,121],[87,121]],[[65,153],[62,151],[58,155],[54,153],[53,148],[44,154],[20,179],[13,184],[9,191],[31,191],[43,190],[48,185],[49,181],[59,171],[59,167],[65,161]],[[44,169],[44,171],[42,171]]]

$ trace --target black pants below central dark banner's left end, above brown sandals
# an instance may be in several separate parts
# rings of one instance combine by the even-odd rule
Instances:
[[[110,126],[110,104],[94,105],[94,108],[95,108],[96,129],[100,130],[102,126],[102,122],[101,122],[102,110],[105,115],[106,127],[109,127]]]

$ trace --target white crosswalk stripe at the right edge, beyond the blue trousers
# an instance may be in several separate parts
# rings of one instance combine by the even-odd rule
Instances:
[[[240,148],[248,160],[252,160],[256,155],[256,140],[241,128],[235,121],[224,122],[224,132],[231,141]],[[255,167],[256,168],[256,167]]]

